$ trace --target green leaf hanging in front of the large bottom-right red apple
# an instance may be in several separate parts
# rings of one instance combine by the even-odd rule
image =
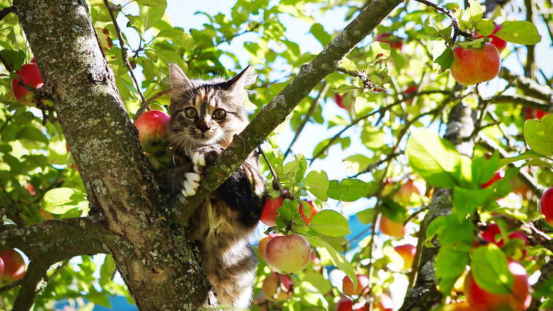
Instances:
[[[515,280],[509,272],[507,257],[496,244],[473,249],[471,259],[471,271],[476,285],[490,293],[510,293]]]

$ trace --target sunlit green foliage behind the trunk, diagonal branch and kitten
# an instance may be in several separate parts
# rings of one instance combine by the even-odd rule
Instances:
[[[398,6],[317,89],[308,90],[308,97],[262,145],[264,175],[267,185],[274,185],[269,195],[287,198],[279,209],[277,226],[265,228],[265,233],[306,236],[316,258],[295,275],[294,293],[284,302],[259,295],[262,281],[271,272],[260,261],[252,310],[334,310],[345,297],[335,281],[341,277],[335,275],[348,275],[354,283],[355,274],[368,275],[369,293],[352,299],[373,303],[381,295],[391,295],[393,283],[408,283],[403,290],[423,286],[416,280],[428,273],[421,268],[427,263],[424,260],[434,265],[430,278],[435,278],[443,297],[463,298],[457,283],[467,266],[482,288],[505,293],[513,283],[507,268],[509,251],[519,246],[486,243],[481,236],[485,223],[498,224],[504,237],[522,230],[532,241],[523,266],[530,273],[548,267],[552,229],[542,224],[537,203],[553,183],[553,116],[534,116],[553,111],[553,90],[548,87],[553,77],[551,67],[536,59],[533,45],[552,52],[546,46],[551,40],[544,40],[541,28],[537,33],[535,26],[552,25],[552,16],[543,13],[551,1],[537,5],[539,16],[529,21],[522,21],[519,13],[527,8],[515,2],[486,9],[475,0],[466,7],[421,2]],[[9,6],[9,0],[0,0],[1,8]],[[308,36],[324,47],[336,35],[328,31],[324,14],[347,11],[342,17],[350,21],[362,6],[362,1],[237,0],[228,14],[199,12],[208,22],[185,31],[169,20],[165,0],[114,2],[109,8],[104,1],[89,1],[94,27],[107,30],[113,40],[111,48],[106,43],[104,53],[132,120],[143,112],[146,102],[151,109],[167,112],[169,95],[163,91],[168,88],[164,80],[170,63],[177,63],[192,77],[230,77],[245,62],[253,64],[259,75],[249,103],[253,119],[289,84],[301,65],[315,58],[303,50],[301,42],[289,38],[294,29],[286,21],[312,25]],[[118,16],[119,25],[113,23],[110,11]],[[122,34],[118,33],[121,21],[128,26]],[[470,34],[490,35],[493,21],[504,21],[496,36],[513,43],[501,53],[500,77],[477,87],[459,86],[447,72],[452,48],[489,40],[472,40]],[[89,192],[57,122],[55,104],[48,98],[33,99],[35,107],[28,107],[11,92],[16,70],[33,58],[32,47],[16,14],[8,13],[0,25],[1,36],[6,38],[0,42],[4,65],[0,72],[0,214],[4,226],[0,232],[47,219],[86,217],[91,209]],[[403,45],[373,42],[376,34],[383,33],[392,34]],[[138,40],[128,40],[130,36]],[[240,53],[229,48],[233,42],[244,42]],[[415,91],[408,92],[409,87]],[[454,107],[459,106],[469,109],[468,125],[467,116],[461,120],[454,114]],[[286,135],[296,136],[289,146],[282,143]],[[296,138],[311,141],[313,148],[294,144]],[[459,147],[467,143],[469,152]],[[505,178],[481,187],[498,170],[505,170]],[[409,179],[423,179],[432,189],[402,202],[397,193]],[[450,190],[448,206],[434,203],[438,188]],[[306,200],[323,209],[312,215],[311,224],[298,214],[299,209],[309,213]],[[447,212],[435,217],[433,203]],[[411,226],[408,236],[382,234],[377,229],[383,216]],[[359,222],[362,234],[350,235],[350,228]],[[412,269],[402,271],[397,263],[401,257],[392,246],[416,238],[419,257]],[[424,256],[436,247],[437,256]],[[87,307],[108,306],[110,295],[131,300],[125,285],[112,280],[116,266],[111,256],[99,266],[98,260],[84,254],[70,259],[48,269],[35,310],[51,310],[62,299],[89,303]],[[546,272],[542,274],[551,273]],[[550,281],[544,277],[535,286],[533,310],[552,304]],[[28,290],[22,284],[16,281],[0,288],[0,309],[11,309],[20,288]],[[393,293],[393,298],[401,304],[403,294]],[[405,300],[403,310],[417,303],[408,301],[409,295]],[[449,300],[434,298],[437,308]]]

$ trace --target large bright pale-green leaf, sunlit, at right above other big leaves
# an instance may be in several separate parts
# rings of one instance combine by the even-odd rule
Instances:
[[[429,129],[414,133],[407,142],[408,163],[426,182],[451,188],[459,183],[461,157],[452,143]]]

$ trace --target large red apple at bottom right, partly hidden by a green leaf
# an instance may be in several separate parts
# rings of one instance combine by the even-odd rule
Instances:
[[[464,294],[473,310],[526,310],[530,306],[530,284],[526,269],[511,258],[508,258],[508,269],[513,274],[515,282],[510,293],[494,294],[479,287],[474,281],[471,271],[464,280]]]

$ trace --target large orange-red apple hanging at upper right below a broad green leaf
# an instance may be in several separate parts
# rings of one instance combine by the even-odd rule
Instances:
[[[501,56],[495,45],[485,42],[480,48],[457,46],[449,71],[459,84],[471,85],[492,80],[501,69]]]

